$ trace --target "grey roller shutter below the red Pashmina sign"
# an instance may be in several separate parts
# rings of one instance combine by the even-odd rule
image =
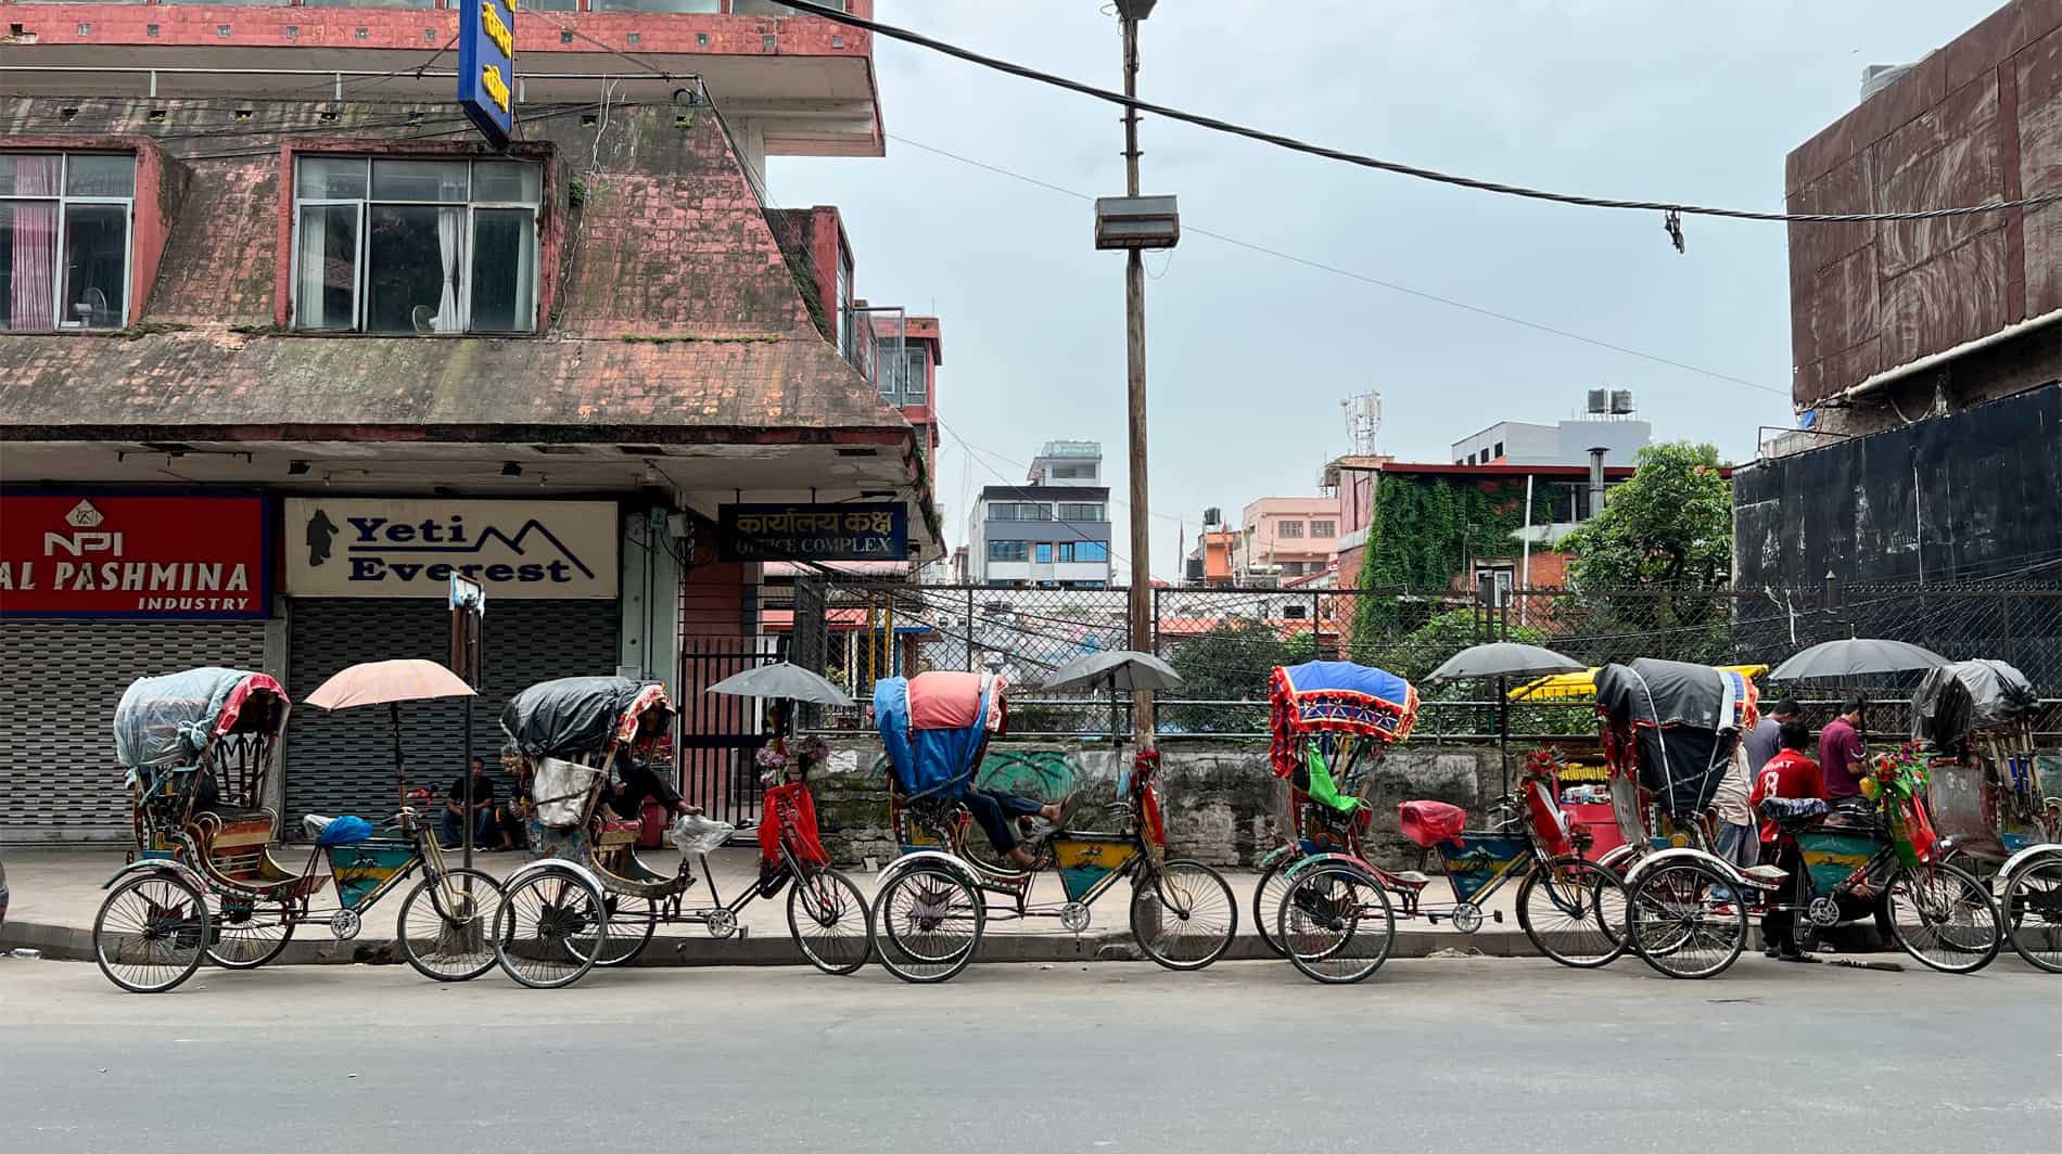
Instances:
[[[128,841],[115,703],[132,680],[264,668],[262,620],[0,624],[0,841]]]

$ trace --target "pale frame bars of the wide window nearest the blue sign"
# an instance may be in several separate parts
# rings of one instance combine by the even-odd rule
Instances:
[[[303,161],[361,161],[365,165],[365,196],[301,196],[301,163]],[[394,200],[373,196],[373,161],[431,161],[431,163],[464,163],[466,165],[466,200]],[[476,200],[472,190],[478,185],[476,169],[478,165],[528,165],[536,169],[536,202],[522,200]],[[542,332],[540,315],[544,311],[544,200],[546,192],[546,163],[542,159],[530,157],[476,157],[476,155],[447,155],[447,152],[320,152],[320,150],[295,150],[289,165],[289,241],[287,241],[287,328],[297,334],[313,336],[538,336]],[[357,247],[351,258],[351,326],[346,328],[322,328],[301,324],[301,291],[299,291],[299,266],[301,266],[301,210],[303,208],[334,208],[334,206],[357,206]],[[371,332],[365,328],[367,297],[365,278],[369,276],[371,262],[371,210],[381,208],[464,208],[466,229],[458,247],[458,328],[452,332]],[[530,328],[472,328],[472,262],[478,249],[478,214],[480,210],[505,212],[505,210],[528,210],[530,212]]]

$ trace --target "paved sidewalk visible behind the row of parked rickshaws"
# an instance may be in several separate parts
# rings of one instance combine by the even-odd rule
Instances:
[[[278,861],[287,868],[305,865],[305,849],[274,851]],[[99,913],[101,898],[105,896],[101,886],[115,870],[122,868],[122,851],[14,847],[0,851],[0,857],[6,861],[8,886],[12,888],[12,907],[6,913],[6,925],[0,927],[0,948],[12,950],[27,946],[41,950],[45,958],[91,960],[93,917]],[[670,847],[643,851],[641,857],[654,870],[672,870],[680,859]],[[528,857],[520,853],[478,853],[474,857],[474,863],[495,878],[507,876],[524,861],[528,861]],[[456,865],[456,855],[452,863]],[[751,849],[718,851],[709,855],[709,865],[716,874],[716,890],[726,901],[742,892],[759,874],[759,857],[757,851]],[[315,868],[322,872],[328,870],[320,861]],[[1260,880],[1258,874],[1250,870],[1221,872],[1225,874],[1225,882],[1231,886],[1231,894],[1239,905],[1237,938],[1225,958],[1272,956],[1254,931],[1252,903],[1254,886]],[[713,901],[709,901],[709,878],[701,878],[699,874],[701,872],[697,870],[695,886],[687,894],[689,905],[713,905]],[[872,901],[878,876],[866,874],[864,870],[852,870],[850,876],[860,886],[860,892]],[[309,923],[295,929],[293,944],[274,964],[400,962],[402,958],[394,950],[394,919],[400,913],[402,898],[412,886],[414,878],[398,886],[371,909],[361,911],[363,929],[351,942],[336,942],[330,936],[328,917],[318,915]],[[1450,896],[1443,880],[1435,880],[1425,892],[1427,898],[1433,901]],[[1489,956],[1532,956],[1532,944],[1526,940],[1524,931],[1518,929],[1518,919],[1511,907],[1514,896],[1516,886],[1505,886],[1499,894],[1495,894],[1495,901],[1485,907],[1487,923],[1472,936],[1456,934],[1443,917],[1437,925],[1423,917],[1398,919],[1396,952],[1392,956],[1423,958],[1439,950],[1464,950]],[[326,886],[318,894],[315,905],[320,909],[332,901],[334,892]],[[992,917],[988,921],[979,954],[979,960],[984,962],[1089,962],[1134,960],[1138,956],[1128,925],[1130,886],[1124,882],[1113,886],[1095,907],[1091,907],[1089,929],[1078,936],[1062,929],[1056,917],[1029,917],[1021,921],[994,917],[996,905],[1002,901],[1004,898],[1000,896],[990,896]],[[1060,901],[1064,901],[1060,878],[1052,874],[1041,876],[1033,888],[1033,903],[1052,903],[1058,907]],[[738,936],[730,940],[716,940],[697,923],[662,923],[658,927],[658,936],[652,946],[645,948],[637,964],[736,966],[804,962],[788,936],[788,894],[784,890],[771,901],[757,898],[738,911]]]

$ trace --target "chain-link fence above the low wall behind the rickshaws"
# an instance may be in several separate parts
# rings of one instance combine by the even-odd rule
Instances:
[[[2062,587],[1911,587],[1837,583],[1806,589],[1507,589],[1481,596],[1402,589],[1155,589],[1153,649],[1188,686],[1161,694],[1163,736],[1258,736],[1276,666],[1346,659],[1419,686],[1421,740],[1495,734],[1507,699],[1524,738],[1594,736],[1586,692],[1516,684],[1431,686],[1431,672],[1481,641],[1526,641],[1588,666],[1666,657],[1777,666],[1839,637],[1893,637],[1947,657],[2010,661],[2046,699],[2039,729],[2062,736]],[[794,653],[866,701],[874,680],[922,670],[998,670],[1017,686],[1019,736],[1103,736],[1130,725],[1130,703],[1039,690],[1085,653],[1128,649],[1124,589],[996,589],[804,581]],[[1786,686],[1815,713],[1870,699],[1870,729],[1907,732],[1911,680]],[[831,717],[829,723],[852,723]]]

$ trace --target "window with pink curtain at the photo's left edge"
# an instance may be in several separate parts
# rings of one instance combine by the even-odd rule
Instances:
[[[136,157],[0,155],[0,332],[128,324]]]

